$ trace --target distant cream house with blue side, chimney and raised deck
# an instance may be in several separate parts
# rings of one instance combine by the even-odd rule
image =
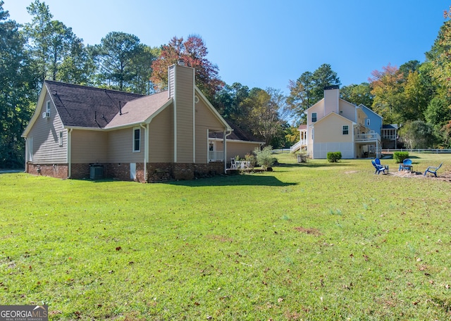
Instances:
[[[382,118],[366,106],[340,99],[338,86],[324,89],[324,98],[307,109],[307,125],[299,126],[300,140],[292,151],[304,149],[310,158],[381,156]]]

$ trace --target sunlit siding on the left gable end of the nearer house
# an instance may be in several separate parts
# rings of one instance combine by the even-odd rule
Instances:
[[[42,118],[42,113],[46,111],[47,101],[50,101],[50,117]],[[59,145],[58,137],[63,132],[63,145]],[[56,108],[47,94],[44,99],[44,106],[41,115],[30,130],[28,137],[32,137],[32,161],[36,164],[58,164],[68,163],[67,147],[68,134],[63,128],[63,122]]]

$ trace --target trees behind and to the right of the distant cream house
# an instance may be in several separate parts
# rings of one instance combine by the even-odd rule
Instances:
[[[451,148],[451,6],[423,63],[407,61],[374,70],[369,82],[340,89],[340,98],[360,103],[383,117],[383,124],[400,126],[408,149]],[[323,98],[325,85],[340,85],[330,65],[290,81],[287,103],[300,122],[305,111]]]

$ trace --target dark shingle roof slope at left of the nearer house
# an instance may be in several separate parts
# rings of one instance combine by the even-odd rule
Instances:
[[[95,87],[45,81],[65,126],[103,128],[119,113],[120,106],[144,95]]]

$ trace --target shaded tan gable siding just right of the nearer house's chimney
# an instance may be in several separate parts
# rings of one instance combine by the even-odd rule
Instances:
[[[207,131],[224,131],[223,124],[211,112],[204,101],[199,100],[195,105],[196,119],[196,163],[208,163]],[[222,144],[221,144],[222,145]],[[216,150],[222,150],[216,148]]]

